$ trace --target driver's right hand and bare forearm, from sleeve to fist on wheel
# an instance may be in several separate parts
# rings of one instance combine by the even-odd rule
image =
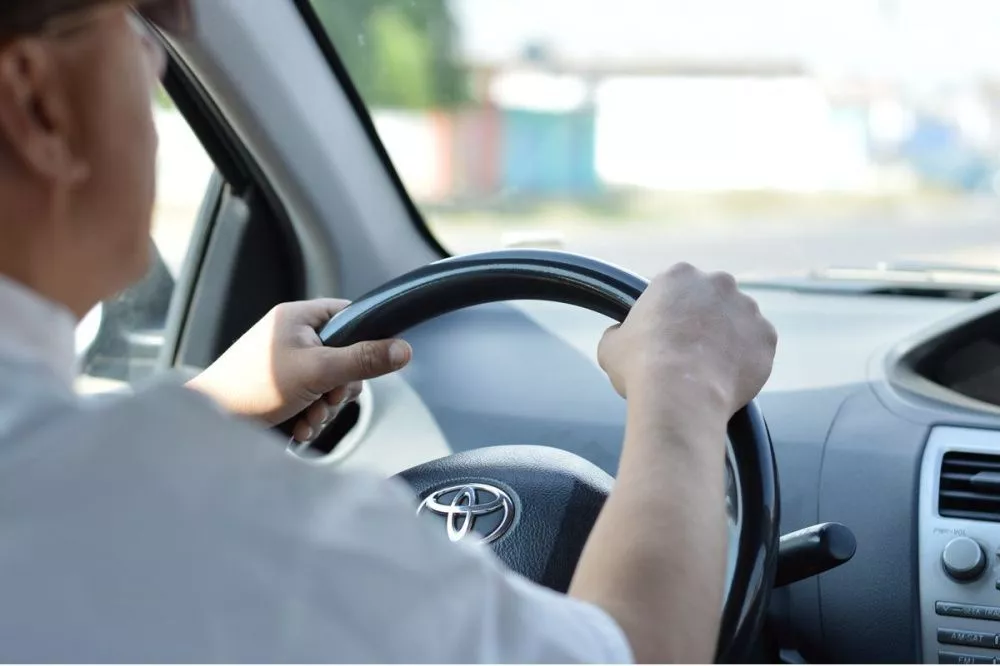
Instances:
[[[654,279],[601,340],[601,367],[628,399],[625,441],[569,593],[611,615],[638,661],[712,660],[727,552],[726,423],[764,385],[776,343],[731,275],[687,264]]]

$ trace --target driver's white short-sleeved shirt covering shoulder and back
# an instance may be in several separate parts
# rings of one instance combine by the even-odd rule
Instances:
[[[82,401],[74,320],[0,278],[0,660],[627,662],[595,606],[160,384]]]

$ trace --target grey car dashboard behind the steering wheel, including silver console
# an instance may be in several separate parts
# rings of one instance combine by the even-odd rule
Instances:
[[[1000,298],[748,291],[780,336],[759,402],[782,532],[836,521],[858,544],[847,564],[775,590],[762,659],[1000,661],[1000,407],[983,400],[993,375],[968,360],[977,335],[1000,331],[989,325]],[[371,383],[340,463],[394,474],[455,451],[540,444],[614,474],[624,402],[595,358],[611,323],[515,302],[411,329],[413,363]],[[979,467],[962,462],[969,454]],[[943,515],[942,487],[958,511],[966,491],[996,493],[996,507]]]

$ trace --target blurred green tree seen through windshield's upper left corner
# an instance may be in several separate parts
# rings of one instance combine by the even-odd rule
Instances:
[[[447,0],[312,0],[369,106],[450,107],[467,99]]]

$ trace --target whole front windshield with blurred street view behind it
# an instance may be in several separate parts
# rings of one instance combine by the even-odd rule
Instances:
[[[1000,264],[1000,2],[313,6],[452,253]]]

